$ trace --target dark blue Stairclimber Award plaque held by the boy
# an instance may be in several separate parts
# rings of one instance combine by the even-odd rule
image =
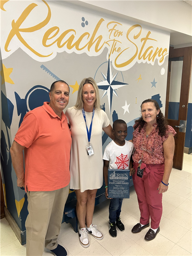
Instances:
[[[108,169],[108,198],[129,198],[130,170]]]

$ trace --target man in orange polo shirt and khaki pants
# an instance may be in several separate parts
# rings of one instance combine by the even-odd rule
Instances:
[[[65,81],[54,82],[50,103],[25,115],[10,148],[17,186],[28,196],[27,256],[42,256],[45,247],[56,256],[67,255],[57,238],[70,182],[71,131],[63,113],[69,93]]]

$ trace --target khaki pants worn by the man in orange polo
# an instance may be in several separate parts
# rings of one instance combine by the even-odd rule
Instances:
[[[55,249],[69,185],[54,191],[27,191],[26,256],[42,256],[44,248]]]

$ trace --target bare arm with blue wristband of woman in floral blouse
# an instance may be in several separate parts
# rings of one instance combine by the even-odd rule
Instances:
[[[172,133],[168,133],[168,138],[163,142],[164,158],[165,158],[165,169],[162,182],[168,184],[170,172],[173,166],[173,156],[175,149],[175,141]],[[162,182],[159,184],[159,194],[167,191],[168,186],[164,185]]]

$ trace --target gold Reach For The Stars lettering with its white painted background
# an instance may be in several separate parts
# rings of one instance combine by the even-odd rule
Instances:
[[[62,22],[58,22],[53,3],[48,4],[45,0],[1,2],[1,17],[9,28],[3,29],[2,26],[3,59],[19,47],[40,62],[52,60],[58,52],[98,56],[104,48],[108,48],[107,56],[111,58],[113,66],[117,70],[127,70],[136,62],[154,65],[156,59],[162,65],[168,55],[167,44],[160,40],[158,33],[152,34],[139,24],[128,27],[109,18],[99,18],[97,22],[94,19],[93,22],[91,13],[86,13],[85,21],[76,9],[72,13],[65,12]],[[54,2],[57,4],[59,1]],[[67,7],[69,5],[66,3]],[[58,8],[58,16],[62,9]],[[39,14],[41,15],[38,17]],[[75,20],[70,18],[71,15],[76,17]],[[91,22],[88,22],[89,19]],[[78,20],[83,21],[81,27]]]

